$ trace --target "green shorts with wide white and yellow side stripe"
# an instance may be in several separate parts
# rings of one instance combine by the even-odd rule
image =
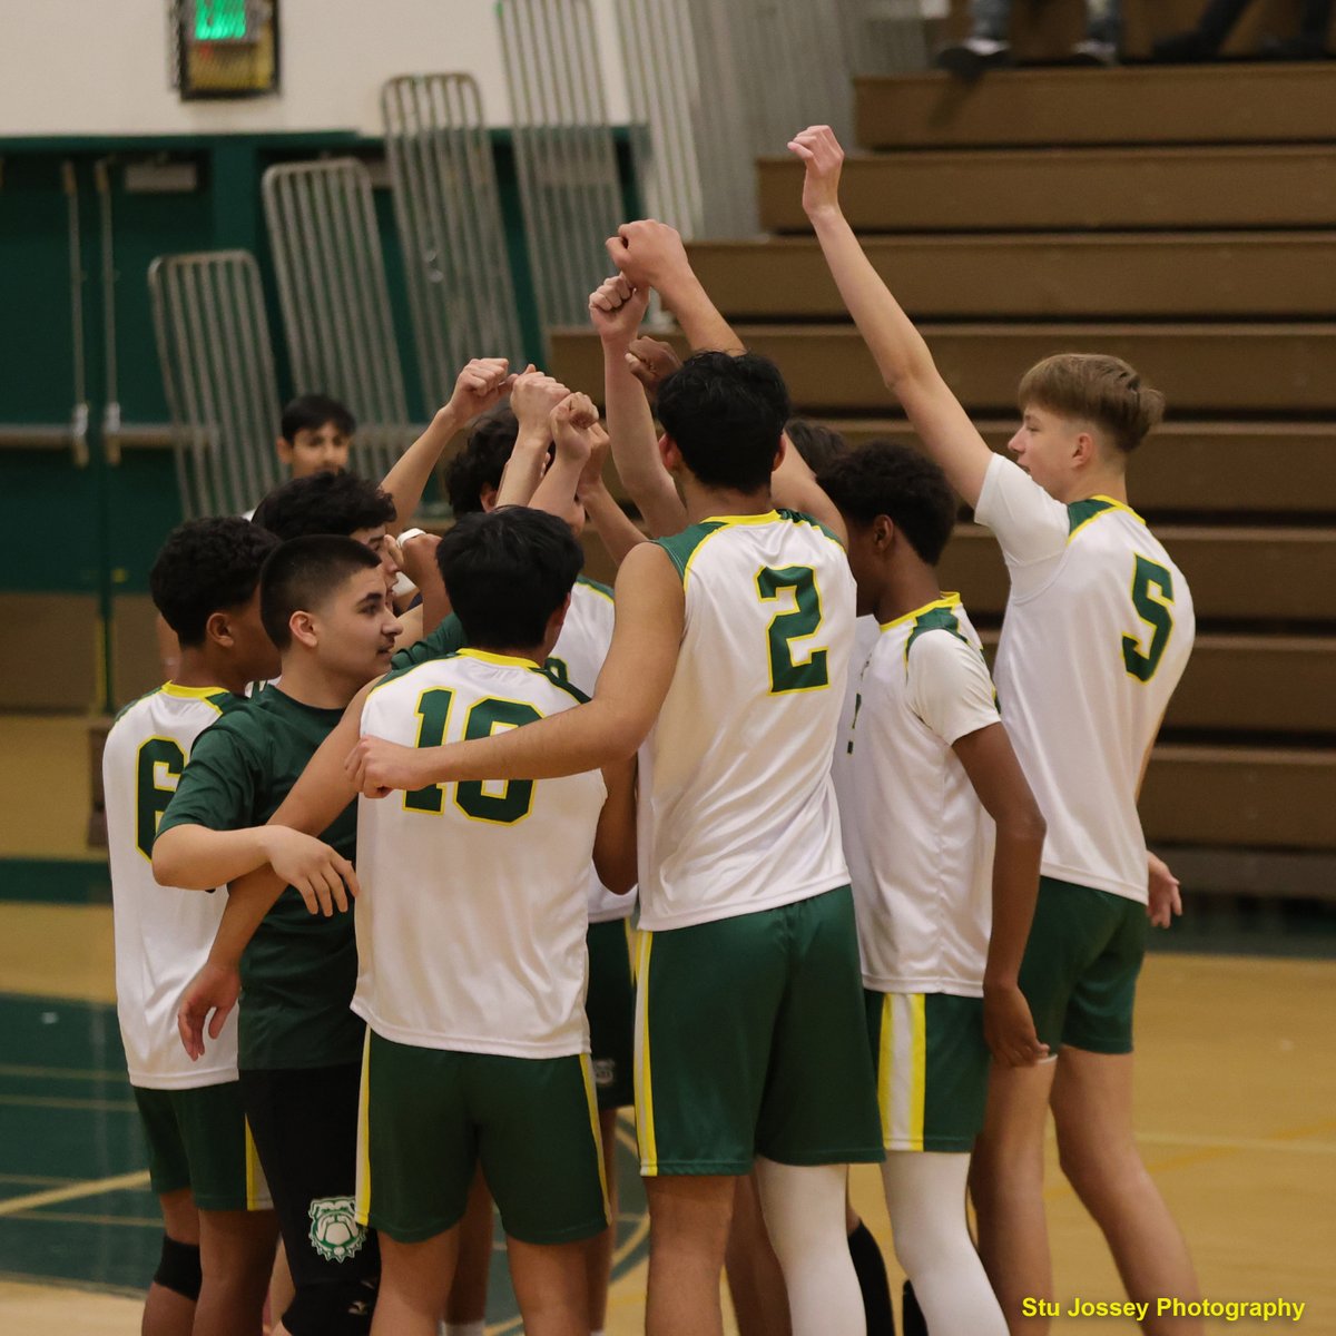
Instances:
[[[872,993],[867,1037],[887,1150],[969,1153],[983,1128],[991,1054],[983,999]]]

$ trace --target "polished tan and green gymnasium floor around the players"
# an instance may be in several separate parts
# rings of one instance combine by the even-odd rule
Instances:
[[[135,1296],[158,1248],[155,1202],[120,1067],[111,910],[98,902],[98,860],[79,858],[84,727],[84,720],[0,719],[0,1332],[7,1336],[132,1336]],[[35,800],[52,792],[69,800]],[[68,864],[63,875],[52,875],[53,859]],[[39,894],[48,902],[35,902]],[[1325,935],[1284,949],[1296,945],[1331,955]],[[1192,1244],[1205,1296],[1304,1303],[1303,1331],[1336,1336],[1333,1017],[1333,959],[1156,953],[1138,1011],[1137,1126],[1146,1162]],[[627,1141],[608,1321],[619,1336],[641,1331],[644,1312],[644,1198],[629,1132]],[[894,1272],[879,1177],[856,1170],[852,1192]],[[1055,1161],[1047,1194],[1063,1308],[1073,1297],[1121,1297],[1102,1241]],[[516,1332],[500,1253],[493,1275],[488,1329]],[[1134,1331],[1122,1320],[1059,1319],[1054,1332],[1092,1325]],[[1208,1324],[1226,1327],[1261,1324]]]

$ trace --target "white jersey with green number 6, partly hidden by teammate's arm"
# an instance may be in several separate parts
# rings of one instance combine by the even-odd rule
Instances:
[[[242,704],[222,687],[167,683],[127,707],[102,758],[107,795],[111,906],[116,935],[116,1014],[130,1083],[191,1090],[236,1079],[236,1009],[199,1062],[176,1034],[176,1007],[204,965],[224,895],[154,880],[158,823],[190,760],[195,739]]]

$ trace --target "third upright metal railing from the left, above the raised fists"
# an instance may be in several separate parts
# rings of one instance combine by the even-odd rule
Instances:
[[[482,95],[472,75],[402,75],[381,116],[422,389],[444,403],[472,357],[524,366]]]

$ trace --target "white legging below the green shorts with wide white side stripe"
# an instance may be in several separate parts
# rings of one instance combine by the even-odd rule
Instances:
[[[965,1214],[967,1154],[891,1150],[882,1165],[895,1256],[930,1332],[1007,1336]]]

